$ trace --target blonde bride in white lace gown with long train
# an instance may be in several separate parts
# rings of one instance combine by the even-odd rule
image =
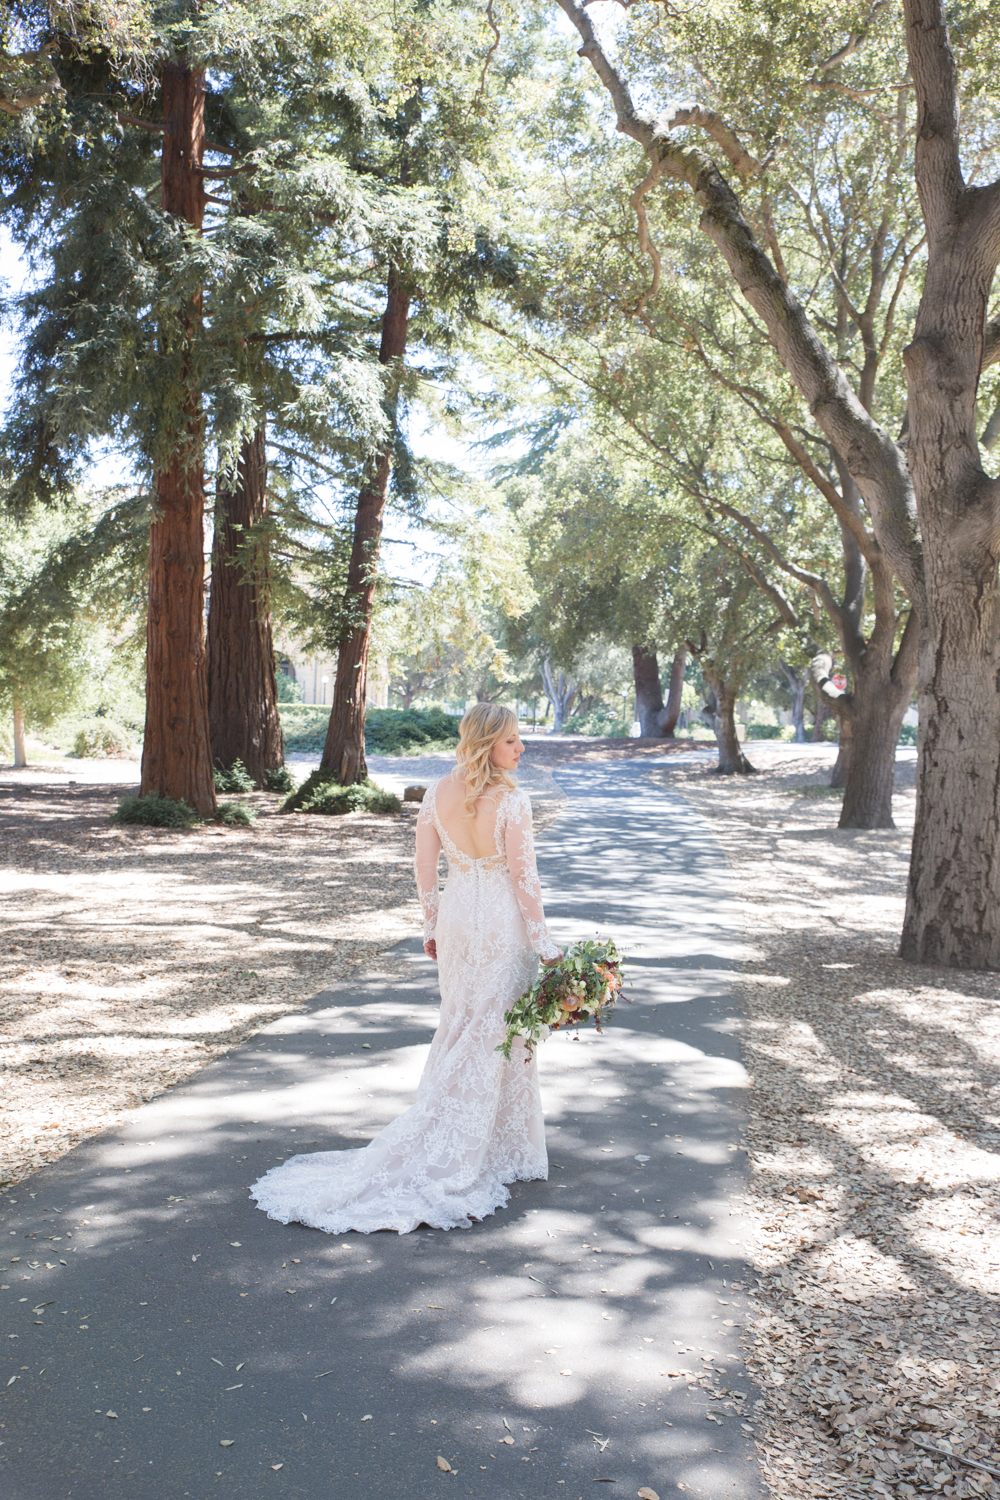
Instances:
[[[417,886],[441,1022],[417,1102],[360,1150],[292,1156],[268,1172],[250,1190],[268,1218],[330,1234],[469,1228],[507,1203],[510,1182],[549,1176],[535,1060],[520,1041],[510,1062],[495,1050],[538,958],[562,957],[546,932],[531,802],[511,778],[523,750],[516,716],[477,704],[462,720],[457,765],[420,808]]]

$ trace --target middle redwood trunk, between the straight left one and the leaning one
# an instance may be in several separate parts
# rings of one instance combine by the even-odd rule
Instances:
[[[270,615],[270,543],[247,544],[267,516],[264,424],[243,441],[234,478],[216,486],[208,603],[208,732],[216,765],[241,760],[258,786],[283,762]]]

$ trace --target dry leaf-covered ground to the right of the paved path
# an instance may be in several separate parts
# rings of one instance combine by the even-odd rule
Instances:
[[[775,1496],[1000,1494],[996,975],[895,957],[913,822],[838,831],[829,768],[651,772],[705,813],[745,903],[748,1348]]]

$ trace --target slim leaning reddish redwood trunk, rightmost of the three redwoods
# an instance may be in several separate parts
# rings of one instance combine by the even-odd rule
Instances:
[[[406,352],[406,330],[409,327],[409,291],[399,274],[390,270],[385,312],[382,314],[382,342],[379,364],[391,364]],[[364,702],[367,696],[367,657],[372,640],[372,610],[375,604],[375,579],[378,552],[382,540],[382,519],[388,495],[388,476],[393,465],[396,440],[396,410],[399,396],[399,370],[388,376],[387,416],[388,434],[382,447],[369,462],[367,476],[361,484],[354,516],[354,542],[348,586],[343,594],[343,628],[337,652],[337,675],[333,684],[333,711],[327,740],[322,747],[321,772],[337,778],[342,786],[354,786],[367,780],[364,759]]]

